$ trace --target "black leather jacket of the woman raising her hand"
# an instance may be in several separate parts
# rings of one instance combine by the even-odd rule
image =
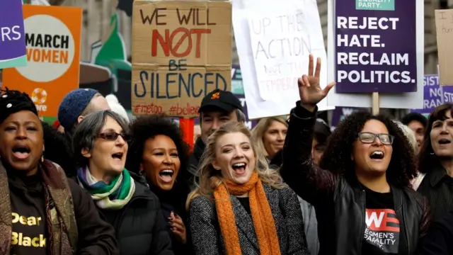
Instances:
[[[297,195],[316,208],[319,254],[362,254],[365,191],[357,180],[319,169],[311,162],[315,115],[316,111],[306,111],[299,102],[292,110],[280,174]],[[403,244],[398,254],[415,254],[430,223],[428,203],[411,188],[391,186],[391,190]]]

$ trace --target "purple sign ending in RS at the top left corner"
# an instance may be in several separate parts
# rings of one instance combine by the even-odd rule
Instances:
[[[27,65],[21,0],[1,3],[0,69]]]

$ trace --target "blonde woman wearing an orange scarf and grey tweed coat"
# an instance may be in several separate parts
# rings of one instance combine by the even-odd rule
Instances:
[[[222,125],[202,159],[188,198],[195,254],[309,254],[297,196],[268,169],[245,125]]]

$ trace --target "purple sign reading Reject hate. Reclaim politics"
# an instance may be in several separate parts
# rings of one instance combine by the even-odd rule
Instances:
[[[415,92],[415,1],[336,1],[336,92]]]

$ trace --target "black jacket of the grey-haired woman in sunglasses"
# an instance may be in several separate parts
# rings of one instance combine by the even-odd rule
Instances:
[[[121,254],[173,255],[167,224],[161,212],[159,198],[152,193],[141,176],[130,173],[135,193],[120,210],[98,208],[103,218],[115,228]]]

